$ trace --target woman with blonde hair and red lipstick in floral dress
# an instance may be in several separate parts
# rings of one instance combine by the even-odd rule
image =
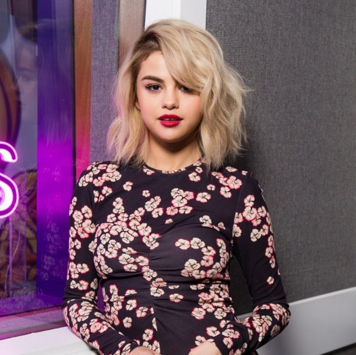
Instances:
[[[100,353],[253,353],[287,326],[261,190],[222,165],[245,137],[244,92],[216,39],[184,21],[149,26],[128,54],[109,131],[115,162],[89,166],[70,205],[64,316]],[[255,307],[242,323],[233,255]]]

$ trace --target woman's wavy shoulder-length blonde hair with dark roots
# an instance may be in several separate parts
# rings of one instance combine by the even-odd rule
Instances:
[[[153,23],[133,44],[117,76],[115,101],[118,116],[108,134],[109,150],[123,164],[144,163],[148,130],[136,108],[136,79],[140,64],[162,52],[170,75],[200,93],[202,120],[197,148],[209,169],[234,159],[246,138],[242,98],[247,92],[241,77],[224,61],[212,34],[189,22],[166,19]]]

